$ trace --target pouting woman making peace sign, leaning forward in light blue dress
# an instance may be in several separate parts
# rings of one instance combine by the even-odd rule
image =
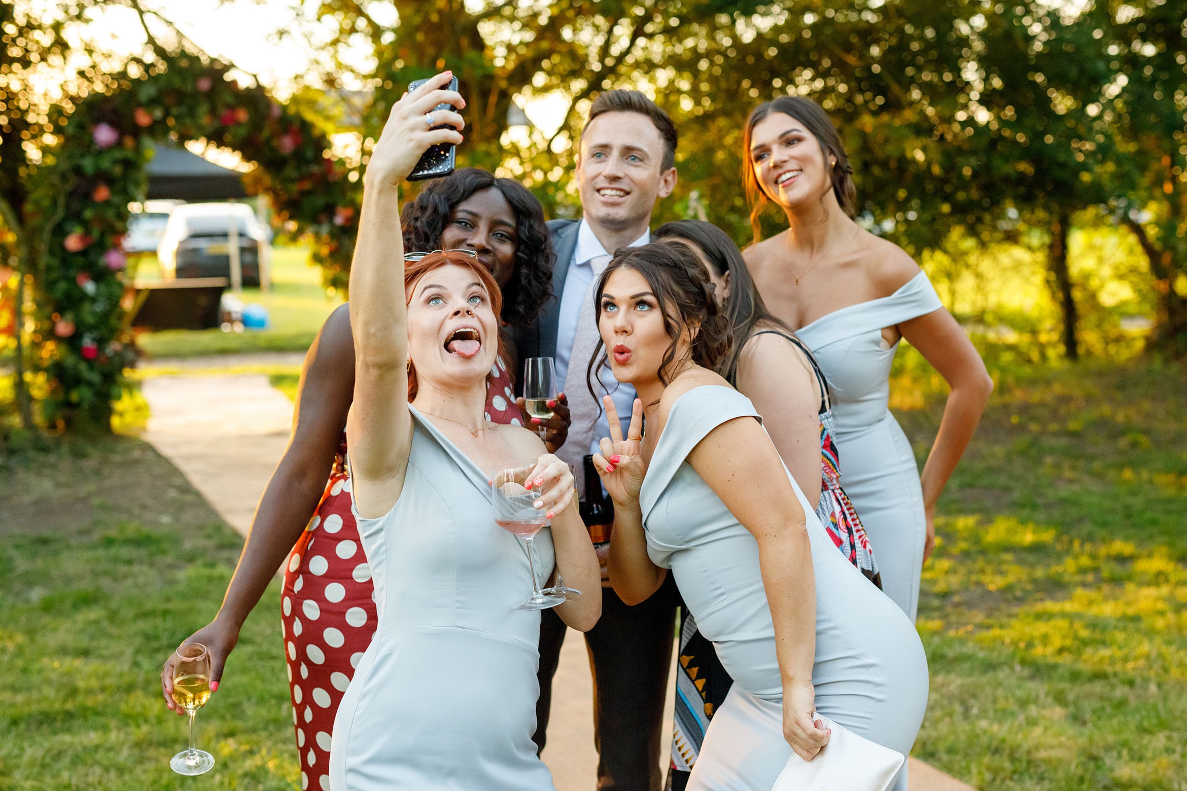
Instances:
[[[622,250],[596,299],[599,364],[639,393],[627,438],[611,414],[595,457],[615,502],[610,582],[630,604],[671,570],[734,678],[687,787],[769,791],[793,749],[811,760],[827,744],[813,712],[909,753],[927,706],[922,644],[837,551],[750,401],[713,372],[729,327],[696,253]]]

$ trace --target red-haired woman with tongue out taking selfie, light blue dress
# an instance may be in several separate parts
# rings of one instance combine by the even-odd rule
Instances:
[[[483,416],[500,343],[490,273],[462,251],[404,262],[399,184],[430,146],[462,141],[462,116],[433,109],[464,106],[447,82],[438,75],[393,107],[367,166],[347,435],[377,629],[335,717],[334,791],[553,789],[532,741],[540,615],[515,608],[532,576],[518,538],[495,524],[491,470],[537,459],[534,505],[552,521],[538,536],[542,575],[557,567],[578,589],[599,586],[567,466],[534,433]],[[601,599],[557,612],[584,631]]]

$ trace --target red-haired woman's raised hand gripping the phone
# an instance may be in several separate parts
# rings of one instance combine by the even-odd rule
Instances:
[[[369,184],[398,185],[411,177],[425,153],[436,146],[447,146],[450,154],[447,170],[438,162],[432,176],[452,172],[452,148],[462,142],[461,130],[465,127],[457,111],[465,107],[465,100],[457,91],[447,90],[452,84],[456,84],[452,74],[436,75],[410,90],[392,107],[367,162],[366,179]]]

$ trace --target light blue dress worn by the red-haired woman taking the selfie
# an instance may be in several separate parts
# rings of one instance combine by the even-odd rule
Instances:
[[[487,472],[414,420],[400,499],[358,516],[379,627],[334,721],[334,791],[553,791],[535,753],[540,613]],[[547,578],[547,529],[535,538]]]

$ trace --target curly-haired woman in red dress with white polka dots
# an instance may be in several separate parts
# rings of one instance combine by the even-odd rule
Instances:
[[[544,212],[515,181],[477,168],[456,171],[406,204],[401,224],[408,250],[474,250],[503,291],[506,326],[532,320],[550,295],[553,254]],[[240,627],[284,563],[284,648],[301,789],[329,789],[334,716],[375,629],[370,568],[351,516],[345,472],[354,370],[350,314],[342,305],[305,357],[292,439],[260,500],[218,615],[186,640],[210,649],[210,687],[217,690]],[[563,395],[554,412],[542,423],[532,420],[540,423],[550,451],[567,433]],[[496,423],[523,420],[504,361],[488,379],[487,417]],[[180,714],[170,696],[173,658],[161,671],[161,691]]]

